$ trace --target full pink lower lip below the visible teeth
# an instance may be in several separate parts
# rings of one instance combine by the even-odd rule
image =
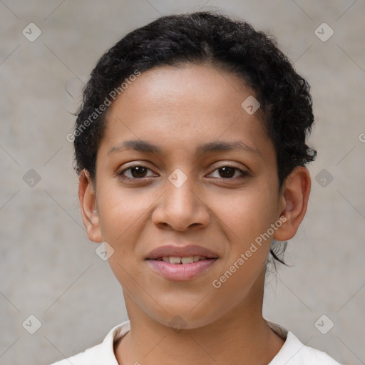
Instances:
[[[217,259],[202,259],[191,264],[170,264],[170,262],[149,259],[150,266],[165,279],[183,282],[192,280],[207,272]]]

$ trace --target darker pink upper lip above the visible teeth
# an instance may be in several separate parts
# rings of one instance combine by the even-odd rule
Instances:
[[[184,247],[165,245],[152,250],[146,259],[158,259],[164,256],[189,257],[204,256],[208,259],[216,259],[218,255],[205,247],[197,245],[187,245]]]

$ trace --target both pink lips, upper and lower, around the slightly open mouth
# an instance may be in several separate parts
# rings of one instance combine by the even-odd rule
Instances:
[[[192,262],[191,264],[170,264],[170,262],[158,260],[158,258],[165,256],[204,256],[207,257],[207,259]],[[166,245],[151,251],[146,260],[148,261],[150,267],[165,279],[183,282],[186,280],[195,279],[207,272],[207,270],[212,267],[217,259],[218,255],[215,254],[215,252],[207,250],[201,246],[188,245],[185,247],[178,247]]]

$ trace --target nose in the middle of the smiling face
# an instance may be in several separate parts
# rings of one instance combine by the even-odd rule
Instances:
[[[153,223],[159,228],[169,227],[179,232],[190,227],[207,227],[210,210],[193,178],[187,178],[181,186],[166,181],[166,191],[158,199],[152,215]]]

